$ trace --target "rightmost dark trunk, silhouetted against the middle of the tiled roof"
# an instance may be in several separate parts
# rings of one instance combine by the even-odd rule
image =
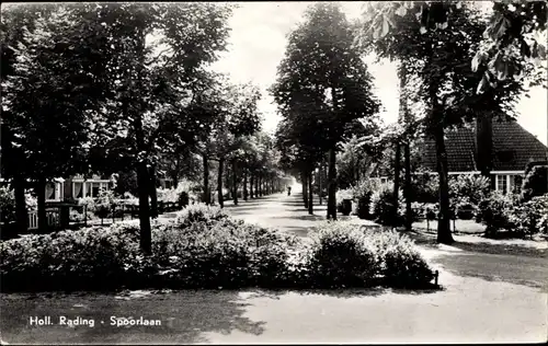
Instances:
[[[493,118],[482,114],[476,118],[476,165],[489,177],[493,166]]]

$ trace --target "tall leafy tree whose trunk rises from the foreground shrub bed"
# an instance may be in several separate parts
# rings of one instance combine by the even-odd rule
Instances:
[[[158,142],[164,131],[176,137],[190,124],[196,126],[198,119],[189,112],[193,89],[204,66],[225,49],[231,8],[106,3],[96,9],[113,51],[104,61],[112,73],[110,112],[101,114],[105,131],[96,140],[121,137],[127,142],[137,171],[140,244],[150,253],[150,173],[157,165]]]

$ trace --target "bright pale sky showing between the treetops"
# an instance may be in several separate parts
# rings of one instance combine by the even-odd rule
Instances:
[[[340,2],[349,20],[361,15],[362,2]],[[240,2],[229,21],[231,34],[228,51],[213,68],[230,76],[235,82],[253,82],[260,86],[262,99],[259,109],[263,115],[263,128],[274,131],[279,116],[267,88],[276,79],[276,68],[282,60],[287,38],[286,35],[304,20],[305,9],[311,2]],[[383,102],[381,117],[385,123],[396,122],[398,115],[398,77],[396,64],[381,61],[375,64],[372,57],[366,59],[369,72],[374,77],[375,93]],[[532,90],[530,99],[522,97],[517,122],[541,142],[547,143],[548,99],[546,90]]]

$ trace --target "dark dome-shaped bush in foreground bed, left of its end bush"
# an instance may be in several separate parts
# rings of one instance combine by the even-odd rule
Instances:
[[[313,287],[369,285],[377,274],[377,262],[364,232],[345,222],[326,222],[318,228],[307,262]]]

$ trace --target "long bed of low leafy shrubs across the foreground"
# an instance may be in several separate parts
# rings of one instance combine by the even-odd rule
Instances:
[[[421,287],[432,270],[407,238],[327,222],[311,243],[193,205],[152,223],[33,234],[0,243],[2,291],[121,288]]]

